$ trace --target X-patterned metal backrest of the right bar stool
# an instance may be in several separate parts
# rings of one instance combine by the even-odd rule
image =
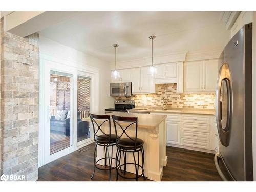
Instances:
[[[136,149],[136,143],[137,143],[137,130],[138,130],[138,117],[121,117],[121,116],[116,116],[112,115],[112,119],[114,122],[114,127],[115,127],[115,132],[116,132],[116,140],[120,140],[122,136],[127,136],[132,142],[134,142],[134,149]],[[123,125],[121,125],[124,123]],[[135,124],[135,134],[130,135],[127,133],[129,129],[134,129]],[[117,128],[121,130],[120,136],[117,134]]]

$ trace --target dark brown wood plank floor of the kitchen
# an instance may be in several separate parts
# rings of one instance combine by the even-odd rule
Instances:
[[[40,167],[38,181],[92,181],[94,143],[89,147],[87,151],[75,151]],[[221,181],[215,168],[214,154],[167,147],[167,156],[168,164],[163,169],[162,181]],[[112,180],[115,178],[113,171]],[[108,180],[107,172],[96,169],[93,181]],[[119,177],[119,181],[125,179]],[[139,181],[144,180],[139,178]]]

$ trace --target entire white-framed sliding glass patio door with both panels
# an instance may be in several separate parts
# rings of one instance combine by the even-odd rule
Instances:
[[[40,70],[40,164],[47,164],[93,142],[89,113],[97,113],[98,97],[92,73],[51,61]]]

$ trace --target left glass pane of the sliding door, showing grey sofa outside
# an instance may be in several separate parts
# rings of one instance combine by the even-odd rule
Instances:
[[[72,145],[72,74],[51,70],[50,74],[50,155]]]

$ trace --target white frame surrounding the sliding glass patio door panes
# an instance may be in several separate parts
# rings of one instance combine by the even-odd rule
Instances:
[[[47,63],[52,63],[52,70],[65,72],[72,74],[72,83],[73,84],[73,94],[71,96],[71,102],[73,104],[73,122],[71,122],[71,126],[74,127],[71,138],[72,146],[66,148],[65,150],[61,150],[59,152],[56,152],[51,155],[51,158],[48,159],[45,157],[45,151],[46,147],[49,147],[50,143],[46,145],[45,138],[46,134],[44,132],[45,127],[45,119],[49,117],[49,112],[47,112],[47,107],[45,103],[45,86],[48,81],[45,80],[45,72]],[[62,69],[62,70],[61,70]],[[64,70],[63,70],[64,69]],[[49,69],[48,69],[49,70]],[[79,143],[77,143],[77,113],[74,113],[75,109],[77,109],[77,74],[81,76],[90,76],[92,78],[92,86],[91,86],[91,112],[92,113],[98,113],[99,112],[99,72],[95,68],[91,68],[89,66],[81,66],[77,65],[77,63],[72,63],[67,60],[62,60],[53,56],[50,56],[45,53],[40,53],[40,75],[39,75],[39,141],[38,141],[38,166],[41,167],[47,163],[50,163],[51,161],[54,161],[55,159],[58,159],[62,156],[65,156],[69,153],[72,153],[79,148],[82,148],[88,144],[91,144],[93,142],[93,131],[91,130],[91,137],[89,139],[83,140]],[[50,76],[50,73],[48,74]],[[50,77],[49,77],[50,78]],[[74,126],[76,124],[76,126]]]

